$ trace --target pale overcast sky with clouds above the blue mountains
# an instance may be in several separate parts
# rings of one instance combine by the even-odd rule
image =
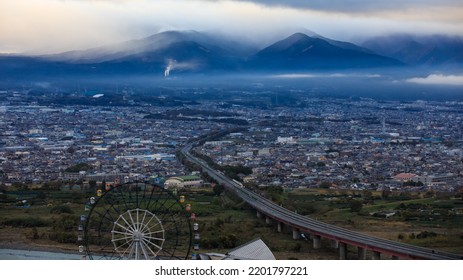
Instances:
[[[265,45],[304,29],[357,43],[390,33],[463,36],[463,1],[0,0],[0,53],[85,49],[166,30]]]

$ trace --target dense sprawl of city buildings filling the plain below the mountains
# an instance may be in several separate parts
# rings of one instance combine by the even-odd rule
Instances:
[[[234,127],[242,129],[194,151],[221,166],[251,169],[239,174],[244,185],[454,191],[463,182],[458,102],[304,97],[303,106],[263,100],[271,106],[256,107],[230,97],[155,106],[131,102],[127,94],[130,106],[86,106],[43,105],[21,90],[2,96],[0,183],[6,186],[164,183],[192,174],[177,155],[187,141]]]

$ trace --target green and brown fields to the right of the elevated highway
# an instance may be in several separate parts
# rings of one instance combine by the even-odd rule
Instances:
[[[463,254],[463,200],[451,194],[299,189],[285,194],[290,207],[309,209],[309,217],[374,236]],[[353,201],[362,202],[359,211]],[[358,209],[356,209],[358,210]],[[390,216],[388,216],[390,214]]]

